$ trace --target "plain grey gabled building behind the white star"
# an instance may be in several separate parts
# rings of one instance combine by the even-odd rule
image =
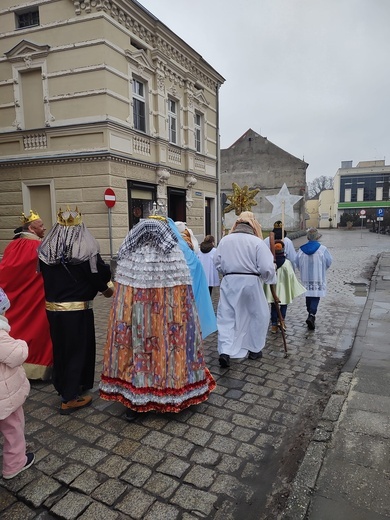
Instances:
[[[221,193],[232,193],[232,183],[251,190],[259,188],[252,211],[264,229],[272,229],[280,215],[273,215],[272,204],[266,199],[277,195],[285,183],[289,193],[302,197],[294,206],[294,218],[285,218],[286,230],[305,229],[306,170],[308,163],[294,157],[249,129],[229,148],[221,150]],[[230,228],[236,219],[234,211],[224,215]]]

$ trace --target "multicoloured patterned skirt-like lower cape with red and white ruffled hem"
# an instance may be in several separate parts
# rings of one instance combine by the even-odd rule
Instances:
[[[179,412],[205,401],[215,386],[192,287],[116,283],[100,397],[138,412]]]

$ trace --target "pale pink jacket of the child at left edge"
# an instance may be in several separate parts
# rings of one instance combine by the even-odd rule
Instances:
[[[28,346],[22,339],[11,338],[10,329],[8,320],[0,316],[0,420],[22,406],[30,392],[22,367]]]

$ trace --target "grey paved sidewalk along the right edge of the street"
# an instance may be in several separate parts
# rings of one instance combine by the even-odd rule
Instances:
[[[372,277],[352,354],[294,479],[283,520],[390,518],[390,252]]]

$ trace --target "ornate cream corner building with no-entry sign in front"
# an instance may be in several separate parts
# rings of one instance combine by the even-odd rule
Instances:
[[[217,235],[216,70],[134,0],[2,0],[0,24],[0,254],[67,205],[103,254],[153,202]]]

